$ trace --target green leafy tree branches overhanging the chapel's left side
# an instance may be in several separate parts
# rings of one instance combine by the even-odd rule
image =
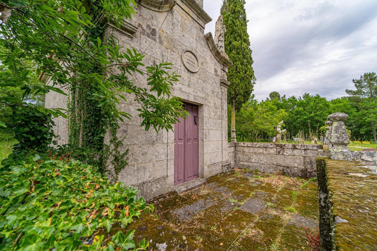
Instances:
[[[172,129],[171,122],[183,114],[177,109],[182,103],[170,96],[169,86],[179,78],[175,72],[167,71],[170,64],[145,69],[143,55],[135,49],[122,51],[115,41],[105,41],[101,35],[100,16],[120,27],[123,18],[131,18],[134,13],[131,4],[136,6],[134,0],[3,1],[2,6],[13,10],[8,22],[0,24],[1,46],[6,49],[0,60],[8,69],[0,72],[0,86],[18,87],[24,96],[51,91],[67,95],[64,87],[85,89],[103,115],[120,121],[130,115],[116,107],[121,100],[127,101],[124,93],[133,93],[142,107],[139,116],[146,130],[150,126],[156,130]],[[36,72],[51,77],[52,84],[31,84],[31,70],[23,66],[25,60],[33,60]],[[132,74],[136,72],[149,76],[149,88],[135,85]],[[37,106],[9,95],[0,97],[0,104],[14,109]],[[167,112],[158,112],[161,109]],[[59,107],[47,112],[66,117],[66,111]],[[100,127],[106,126],[105,121],[101,122]]]

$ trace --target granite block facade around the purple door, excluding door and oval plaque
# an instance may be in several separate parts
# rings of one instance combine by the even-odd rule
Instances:
[[[133,27],[133,32],[124,35],[122,29],[108,26],[105,38],[113,37],[122,50],[135,48],[144,54],[145,66],[162,61],[174,64],[170,71],[176,71],[182,78],[171,87],[172,95],[198,105],[199,177],[208,178],[228,170],[227,85],[222,84],[226,81],[227,67],[208,47],[204,35],[208,19],[202,1],[177,0],[166,11],[153,10],[148,4],[148,0],[140,1],[135,16],[125,23]],[[191,72],[182,62],[186,50],[197,57],[197,72]],[[146,75],[134,74],[133,78],[138,86],[147,87]],[[126,136],[122,150],[129,149],[129,165],[118,178],[138,188],[146,199],[168,193],[174,184],[174,132],[156,133],[153,129],[145,132],[136,111],[140,104],[133,95],[124,96],[127,102],[118,108],[132,118],[120,124],[118,136]],[[105,137],[107,142],[109,135]]]

